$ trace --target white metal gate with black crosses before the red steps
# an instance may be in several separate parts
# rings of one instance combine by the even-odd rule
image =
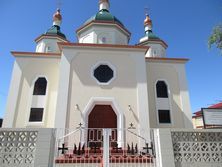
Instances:
[[[152,142],[133,128],[60,129],[56,138],[55,167],[156,167]]]

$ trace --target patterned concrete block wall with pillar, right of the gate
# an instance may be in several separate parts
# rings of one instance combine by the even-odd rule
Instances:
[[[155,129],[158,167],[220,167],[222,131]]]

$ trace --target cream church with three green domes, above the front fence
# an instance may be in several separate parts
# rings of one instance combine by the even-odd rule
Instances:
[[[76,31],[76,43],[68,41],[61,22],[57,10],[52,27],[36,38],[36,51],[12,52],[3,127],[135,127],[139,134],[192,128],[188,60],[167,58],[168,45],[155,35],[149,15],[137,45],[129,45],[131,34],[108,0],[100,0],[99,11]],[[117,136],[123,140],[121,132]]]

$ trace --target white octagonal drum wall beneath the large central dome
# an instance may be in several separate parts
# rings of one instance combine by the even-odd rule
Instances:
[[[102,39],[105,38],[105,41]],[[94,25],[79,34],[79,43],[128,44],[127,36],[115,26]]]

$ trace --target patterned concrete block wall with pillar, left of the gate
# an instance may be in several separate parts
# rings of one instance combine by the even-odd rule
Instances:
[[[0,129],[1,167],[51,167],[54,129]]]

